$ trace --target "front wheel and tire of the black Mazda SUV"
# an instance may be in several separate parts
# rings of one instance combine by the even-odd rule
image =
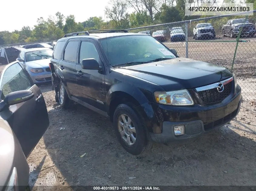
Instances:
[[[118,141],[127,152],[133,155],[148,151],[152,146],[148,132],[138,116],[135,110],[127,104],[118,105],[113,116]]]

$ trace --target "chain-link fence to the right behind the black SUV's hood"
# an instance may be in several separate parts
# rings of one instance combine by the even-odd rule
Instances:
[[[232,69],[242,88],[242,107],[253,110],[256,100],[255,18],[222,15],[127,30],[151,35],[174,48],[180,57]]]

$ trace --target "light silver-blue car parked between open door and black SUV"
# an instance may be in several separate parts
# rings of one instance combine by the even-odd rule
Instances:
[[[17,60],[28,71],[34,83],[51,81],[51,69],[49,68],[49,63],[52,58],[52,49],[19,48],[19,50],[21,52]]]

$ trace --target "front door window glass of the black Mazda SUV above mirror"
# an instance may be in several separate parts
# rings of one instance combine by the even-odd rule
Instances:
[[[79,63],[82,63],[83,59],[88,58],[94,58],[99,62],[99,53],[93,43],[82,41],[79,53]]]

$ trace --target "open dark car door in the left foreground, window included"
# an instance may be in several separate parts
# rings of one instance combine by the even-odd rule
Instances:
[[[34,96],[25,102],[11,105],[0,112],[18,138],[26,157],[38,143],[49,126],[44,97],[33,84],[27,71],[18,62],[8,65],[1,75],[1,102],[11,92],[30,90]]]

